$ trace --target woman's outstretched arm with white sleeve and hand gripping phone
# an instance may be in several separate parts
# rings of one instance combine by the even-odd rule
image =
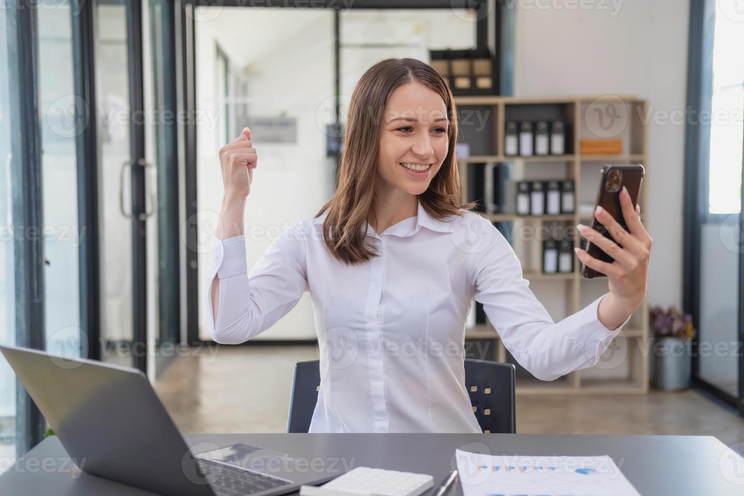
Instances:
[[[617,236],[623,248],[612,240],[595,240],[591,239],[592,233],[587,235],[600,248],[609,250],[615,263],[580,255],[580,260],[587,260],[586,265],[608,275],[610,292],[559,322],[553,321],[530,290],[519,258],[488,219],[479,216],[477,222],[461,222],[453,233],[453,241],[470,254],[468,266],[475,300],[483,303],[504,347],[538,379],[552,381],[597,364],[644,297],[651,239],[641,225],[639,210],[634,211],[625,193],[620,196],[631,232],[619,232],[620,225],[613,223],[606,212],[598,213],[597,219]],[[471,232],[474,229],[477,232]],[[597,231],[593,233],[604,238]],[[478,238],[475,244],[464,241],[474,235]]]

